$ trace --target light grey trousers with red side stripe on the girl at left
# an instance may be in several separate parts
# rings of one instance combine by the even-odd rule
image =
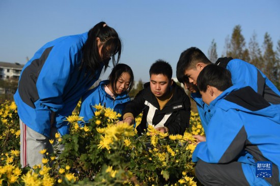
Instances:
[[[19,119],[19,125],[21,167],[33,167],[34,165],[42,164],[42,159],[46,158],[46,153],[41,154],[40,150],[47,149],[49,154],[53,152],[53,148],[49,140],[53,139],[53,144],[57,143],[55,133],[58,132],[58,129],[52,127],[50,129],[50,137],[48,138],[26,126],[21,119]],[[63,150],[63,146],[60,145],[59,149]]]

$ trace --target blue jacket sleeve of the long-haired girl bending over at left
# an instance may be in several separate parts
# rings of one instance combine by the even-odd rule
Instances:
[[[57,112],[64,106],[64,89],[71,72],[78,70],[77,53],[79,49],[70,41],[53,46],[37,80],[40,102]]]

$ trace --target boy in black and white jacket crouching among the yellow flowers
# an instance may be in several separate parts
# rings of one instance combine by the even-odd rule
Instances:
[[[142,121],[136,128],[138,134],[144,133],[148,125],[161,132],[181,135],[189,127],[189,98],[173,82],[172,67],[166,61],[159,59],[151,66],[150,82],[126,105],[121,122],[133,125],[134,118],[142,111]]]

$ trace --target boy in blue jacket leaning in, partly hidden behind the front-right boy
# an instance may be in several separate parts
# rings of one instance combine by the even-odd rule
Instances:
[[[199,48],[190,47],[180,55],[177,63],[177,79],[181,83],[188,80],[189,83],[197,85],[198,75],[209,64],[212,64],[211,61]],[[226,68],[231,72],[234,85],[244,83],[258,92],[270,104],[280,104],[280,91],[254,65],[232,57],[219,58],[215,65]],[[212,113],[208,111],[208,106],[202,101],[199,92],[192,93],[191,98],[197,103],[203,128],[207,132],[207,125]]]

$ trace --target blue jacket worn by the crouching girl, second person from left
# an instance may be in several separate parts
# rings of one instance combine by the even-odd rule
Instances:
[[[109,80],[101,81],[97,87],[89,90],[82,98],[79,116],[82,116],[85,122],[88,122],[94,116],[96,109],[93,106],[99,103],[106,108],[114,109],[117,113],[122,114],[125,105],[130,102],[126,91],[118,95],[115,100],[110,97],[104,89],[104,85],[107,84],[109,84]]]

